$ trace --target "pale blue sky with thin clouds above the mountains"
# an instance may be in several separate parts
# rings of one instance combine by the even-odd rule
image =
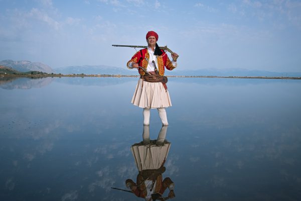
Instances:
[[[0,60],[126,68],[145,35],[178,68],[301,71],[301,1],[0,0]],[[169,57],[171,58],[170,54]]]

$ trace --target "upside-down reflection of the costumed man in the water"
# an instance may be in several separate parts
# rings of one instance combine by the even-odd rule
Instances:
[[[168,126],[163,126],[157,140],[149,139],[149,125],[143,127],[143,142],[133,144],[131,151],[139,173],[136,183],[127,179],[126,187],[145,200],[162,199],[162,194],[169,188],[168,198],[175,197],[174,182],[169,178],[163,179],[162,173],[165,172],[164,163],[166,161],[170,142],[165,140]],[[156,197],[156,198],[154,198]]]

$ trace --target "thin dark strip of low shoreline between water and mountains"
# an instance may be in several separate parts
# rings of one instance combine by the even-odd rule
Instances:
[[[0,74],[0,77],[139,77],[140,75],[100,75],[100,74]],[[301,77],[267,77],[267,76],[206,76],[206,75],[167,75],[167,77],[184,77],[184,78],[240,78],[240,79],[301,79]]]

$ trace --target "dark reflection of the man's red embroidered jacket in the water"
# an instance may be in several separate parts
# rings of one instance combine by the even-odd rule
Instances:
[[[143,177],[138,174],[137,175],[137,183],[133,182],[133,180],[131,179],[126,179],[125,184],[127,183],[131,183],[132,186],[140,184],[139,186],[137,186],[137,188],[135,190],[132,190],[132,192],[137,196],[137,197],[143,197],[145,198],[147,195],[147,191],[146,191],[146,186],[144,184],[144,180]],[[161,194],[164,193],[164,191],[166,190],[166,188],[171,185],[172,183],[174,183],[169,177],[166,177],[163,181],[162,181],[162,174],[160,174],[157,177],[157,182],[156,182],[156,186],[154,186],[154,193],[156,192],[160,192]]]

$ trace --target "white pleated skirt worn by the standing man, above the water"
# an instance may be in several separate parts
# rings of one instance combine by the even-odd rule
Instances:
[[[142,87],[143,84],[143,87]],[[131,103],[139,108],[167,108],[172,106],[168,90],[161,82],[138,80]]]

